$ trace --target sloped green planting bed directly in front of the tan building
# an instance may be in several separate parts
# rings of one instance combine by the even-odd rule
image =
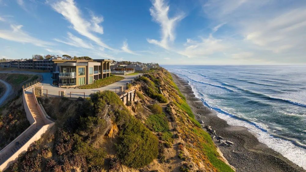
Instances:
[[[124,79],[124,77],[122,77],[122,76],[110,75],[110,77],[95,80],[94,83],[92,83],[92,84],[82,85],[82,86],[79,86],[78,88],[80,88],[80,89],[100,88],[100,87],[108,86],[112,83],[118,82],[122,79]]]

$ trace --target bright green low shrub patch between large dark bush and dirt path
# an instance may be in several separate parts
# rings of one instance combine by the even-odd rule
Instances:
[[[155,132],[164,132],[169,130],[169,124],[165,114],[150,115],[146,120],[146,124]]]

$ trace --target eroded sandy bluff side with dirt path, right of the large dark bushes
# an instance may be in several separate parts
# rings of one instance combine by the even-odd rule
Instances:
[[[129,108],[130,112],[150,128],[160,142],[158,159],[151,163],[151,167],[146,167],[146,170],[233,171],[210,135],[203,131],[195,119],[168,71],[160,68],[143,75],[129,88],[133,89],[136,89],[138,100],[134,106],[139,108],[136,108],[136,113]],[[157,130],[150,125],[150,119],[156,116],[152,115],[156,113],[153,104],[162,107],[164,119],[169,125],[168,130]],[[166,140],[164,135],[167,134],[172,135],[172,139]]]

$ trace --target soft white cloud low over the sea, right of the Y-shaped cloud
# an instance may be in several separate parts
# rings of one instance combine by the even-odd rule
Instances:
[[[208,38],[202,38],[200,42],[187,39],[187,42],[184,45],[186,46],[185,50],[178,51],[178,53],[189,58],[205,57],[217,52],[222,52],[228,48],[221,39],[216,39],[212,35],[209,35]]]

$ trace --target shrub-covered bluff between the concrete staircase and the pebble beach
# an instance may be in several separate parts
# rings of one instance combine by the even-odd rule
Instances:
[[[233,171],[194,119],[165,69],[128,86],[136,102],[111,91],[90,98],[39,97],[55,126],[11,171]]]

